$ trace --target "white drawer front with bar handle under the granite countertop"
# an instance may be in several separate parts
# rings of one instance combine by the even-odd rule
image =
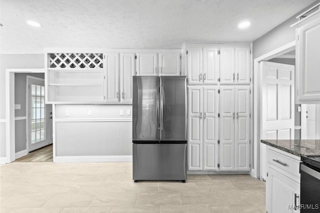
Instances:
[[[267,161],[269,166],[278,168],[279,172],[300,183],[300,162],[298,160],[282,153],[276,152],[272,149],[268,149]]]

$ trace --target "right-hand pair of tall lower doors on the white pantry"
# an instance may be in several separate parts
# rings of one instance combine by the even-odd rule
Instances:
[[[250,87],[220,87],[219,170],[250,170]]]

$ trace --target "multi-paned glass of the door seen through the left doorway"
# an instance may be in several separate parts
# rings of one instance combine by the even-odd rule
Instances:
[[[31,84],[31,144],[45,140],[44,86]]]

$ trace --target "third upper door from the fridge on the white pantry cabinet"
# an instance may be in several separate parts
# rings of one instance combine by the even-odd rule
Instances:
[[[220,84],[234,84],[234,48],[220,48]]]

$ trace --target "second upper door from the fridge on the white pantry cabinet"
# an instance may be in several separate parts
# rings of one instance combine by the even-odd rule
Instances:
[[[219,48],[203,48],[203,83],[217,84],[220,69]]]

